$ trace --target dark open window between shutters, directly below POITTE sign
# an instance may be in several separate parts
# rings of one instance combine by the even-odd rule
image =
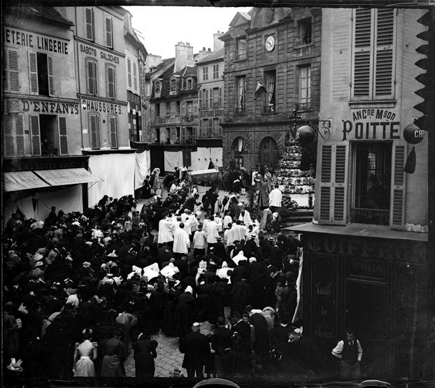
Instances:
[[[390,222],[391,143],[357,143],[352,222]]]

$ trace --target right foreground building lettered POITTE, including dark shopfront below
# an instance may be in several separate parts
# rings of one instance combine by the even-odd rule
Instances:
[[[413,145],[404,138],[409,129],[424,137],[413,121],[425,12],[322,10],[314,221],[291,228],[304,245],[304,335],[330,351],[352,326],[364,373],[385,378],[420,376],[414,355],[425,341],[416,338],[426,338],[432,318],[428,143],[420,138],[415,169],[406,168]]]

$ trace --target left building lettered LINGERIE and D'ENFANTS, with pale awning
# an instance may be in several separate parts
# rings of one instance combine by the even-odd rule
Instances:
[[[38,6],[3,17],[3,220],[83,210],[83,183],[94,178],[81,152],[74,18]]]

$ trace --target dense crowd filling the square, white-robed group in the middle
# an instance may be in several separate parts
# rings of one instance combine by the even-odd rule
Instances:
[[[155,182],[140,212],[133,196],[104,196],[83,213],[53,207],[45,221],[20,213],[8,220],[8,369],[53,379],[121,377],[132,347],[136,377],[152,378],[159,331],[179,338],[188,377],[261,373],[272,352],[280,362],[297,354],[291,336],[311,354],[309,368],[318,368],[314,347],[294,331],[296,236],[265,236],[264,222],[236,193],[221,201],[211,187],[200,199],[180,174],[165,183],[163,199]],[[205,321],[215,327],[211,336],[200,333]]]

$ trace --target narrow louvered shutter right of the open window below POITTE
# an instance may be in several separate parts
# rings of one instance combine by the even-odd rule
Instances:
[[[390,227],[403,229],[405,206],[405,145],[393,145]]]

